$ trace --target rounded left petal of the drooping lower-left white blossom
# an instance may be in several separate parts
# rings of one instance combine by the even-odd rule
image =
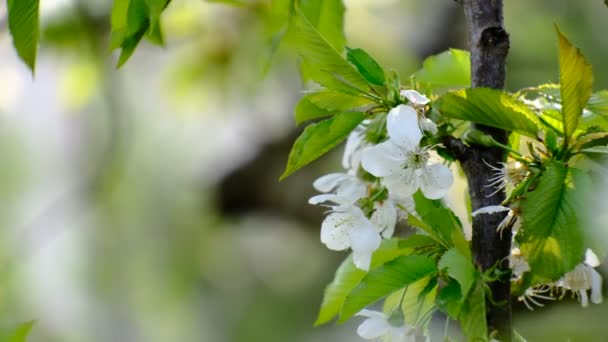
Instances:
[[[321,224],[321,242],[334,251],[350,247],[349,231],[357,218],[350,212],[331,213]]]

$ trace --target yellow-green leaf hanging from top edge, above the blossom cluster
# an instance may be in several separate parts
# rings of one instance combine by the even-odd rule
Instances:
[[[344,4],[342,0],[300,0],[299,8],[306,19],[336,51],[346,44]]]

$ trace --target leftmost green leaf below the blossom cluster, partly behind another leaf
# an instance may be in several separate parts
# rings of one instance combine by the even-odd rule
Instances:
[[[403,253],[404,251],[398,248],[396,240],[384,240],[380,248],[372,256],[370,269],[373,270]],[[315,326],[331,321],[340,313],[346,296],[361,282],[366,274],[365,271],[358,269],[353,264],[352,255],[342,262],[336,270],[334,280],[325,288],[323,303],[321,304]]]

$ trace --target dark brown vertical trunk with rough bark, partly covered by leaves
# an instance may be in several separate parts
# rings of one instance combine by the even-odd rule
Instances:
[[[503,26],[502,0],[463,0],[462,4],[471,45],[471,86],[502,89],[509,52],[509,35]],[[482,125],[475,125],[474,128],[507,144],[509,133],[504,130]],[[489,165],[501,167],[500,163],[506,159],[503,150],[461,146],[458,158],[468,179],[473,210],[500,204],[505,199],[504,191],[494,193],[495,189],[487,186],[493,176]],[[498,304],[486,301],[486,315],[488,331],[497,334],[495,338],[501,341],[510,341],[511,295],[507,257],[511,250],[511,232],[505,231],[501,239],[496,231],[504,216],[504,213],[478,215],[473,219],[473,256],[482,270],[498,266],[498,270],[506,274],[490,283],[493,301]]]

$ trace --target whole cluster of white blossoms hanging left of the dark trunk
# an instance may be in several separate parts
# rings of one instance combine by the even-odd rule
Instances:
[[[437,132],[424,116],[429,99],[413,90],[401,95],[409,105],[388,112],[388,139],[368,142],[370,122],[363,122],[346,142],[345,171],[317,179],[313,186],[323,194],[309,200],[330,208],[321,225],[321,242],[331,250],[350,248],[355,266],[366,271],[382,238],[392,237],[400,211],[414,212],[412,195],[420,190],[429,199],[439,199],[453,183],[450,169],[435,159],[432,147],[420,145],[423,132]],[[372,177],[363,179],[362,172]]]

